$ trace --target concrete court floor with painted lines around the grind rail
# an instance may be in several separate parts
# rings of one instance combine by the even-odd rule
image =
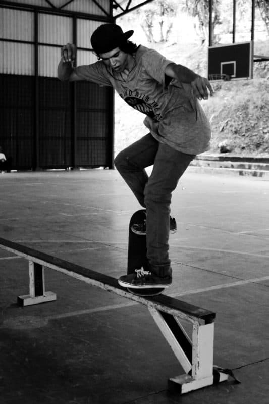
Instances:
[[[131,214],[117,171],[0,175],[0,237],[95,271],[126,271]],[[46,270],[57,301],[19,308],[28,263],[0,249],[1,404],[267,404],[269,182],[185,173],[172,201],[173,285],[217,313],[214,363],[233,380],[178,396],[183,373],[146,307]]]

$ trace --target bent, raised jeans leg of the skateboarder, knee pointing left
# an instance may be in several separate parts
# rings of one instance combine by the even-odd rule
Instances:
[[[115,167],[144,208],[144,189],[148,181],[145,167],[153,165],[158,146],[158,141],[149,133],[122,150],[114,160]]]

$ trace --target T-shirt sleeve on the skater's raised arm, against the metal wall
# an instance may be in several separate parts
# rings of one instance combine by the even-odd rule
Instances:
[[[91,65],[78,66],[74,69],[74,73],[76,73],[80,80],[87,80],[104,86],[112,86],[105,66],[101,61],[92,63]]]

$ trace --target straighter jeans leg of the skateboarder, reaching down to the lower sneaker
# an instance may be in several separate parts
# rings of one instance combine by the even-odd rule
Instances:
[[[172,191],[194,157],[160,143],[145,186],[147,258],[158,276],[171,274],[168,241]]]

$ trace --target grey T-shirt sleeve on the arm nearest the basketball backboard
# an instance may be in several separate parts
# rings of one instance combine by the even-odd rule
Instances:
[[[154,49],[149,49],[142,57],[143,66],[147,74],[158,81],[160,84],[165,85],[165,70],[171,60],[166,59],[163,55],[159,54]]]

